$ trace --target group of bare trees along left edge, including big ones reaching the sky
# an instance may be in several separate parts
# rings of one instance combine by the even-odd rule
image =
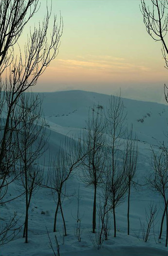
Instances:
[[[20,194],[26,200],[25,242],[30,200],[42,178],[37,160],[46,141],[41,100],[26,91],[37,84],[38,77],[56,58],[62,35],[62,19],[57,24],[54,16],[53,30],[48,37],[52,8],[47,7],[44,20],[30,29],[24,50],[16,56],[15,47],[21,33],[39,6],[38,0],[0,1],[0,205],[7,203],[8,186],[17,180],[22,187]],[[16,215],[5,219],[5,225],[1,223],[0,246],[16,235]]]

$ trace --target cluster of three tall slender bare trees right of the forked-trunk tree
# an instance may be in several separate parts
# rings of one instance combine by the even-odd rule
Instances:
[[[137,141],[132,127],[128,131],[124,106],[120,96],[111,97],[109,107],[94,106],[89,113],[86,130],[80,141],[81,180],[93,187],[93,233],[96,229],[96,212],[101,220],[102,236],[108,238],[110,215],[113,216],[116,236],[115,209],[128,195],[128,235],[130,232],[130,194],[137,163]],[[100,199],[97,204],[97,196]],[[98,210],[96,211],[96,207]]]

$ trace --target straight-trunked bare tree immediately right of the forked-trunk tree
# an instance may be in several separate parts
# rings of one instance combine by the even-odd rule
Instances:
[[[96,227],[96,194],[97,187],[103,183],[105,170],[106,124],[103,120],[102,108],[93,107],[89,114],[87,128],[83,135],[83,150],[88,152],[82,161],[82,181],[93,186],[93,233]]]

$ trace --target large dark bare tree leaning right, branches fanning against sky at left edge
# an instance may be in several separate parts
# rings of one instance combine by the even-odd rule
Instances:
[[[6,4],[6,2],[8,4]],[[1,10],[4,11],[4,17],[2,15],[3,12],[1,12],[1,63],[5,63],[5,67],[6,63],[8,63],[8,50],[13,50],[13,45],[18,41],[24,25],[36,12],[38,1],[29,0],[28,2],[25,2],[24,0],[7,0],[6,2],[0,3]],[[14,5],[13,2],[15,2]],[[30,8],[31,5],[34,6],[33,9]],[[28,11],[30,11],[30,14],[27,17]],[[8,72],[9,78],[6,78],[5,84],[1,85],[5,91],[5,101],[7,103],[6,120],[0,139],[1,171],[3,169],[3,158],[7,151],[6,141],[9,141],[12,130],[14,129],[13,127],[10,127],[9,123],[15,112],[19,97],[29,87],[36,85],[38,77],[57,55],[58,43],[62,34],[62,22],[60,20],[59,25],[57,25],[56,16],[54,17],[53,31],[50,36],[51,40],[49,41],[47,39],[47,31],[50,17],[51,9],[48,10],[47,8],[46,17],[42,24],[39,23],[39,27],[35,27],[33,32],[30,30],[28,42],[24,47],[24,56],[20,52],[19,58],[16,58],[15,60],[12,59]],[[13,53],[11,53],[11,55],[12,54]]]

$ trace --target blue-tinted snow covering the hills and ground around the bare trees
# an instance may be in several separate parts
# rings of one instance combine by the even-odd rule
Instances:
[[[109,95],[86,91],[62,91],[43,94],[43,111],[48,122],[50,134],[50,152],[56,154],[61,141],[68,136],[80,132],[86,128],[89,108],[101,105],[106,108],[109,104]],[[167,143],[167,117],[168,106],[151,102],[142,102],[123,99],[124,109],[127,112],[127,122],[132,123],[133,130],[138,139],[137,179],[144,183],[144,175],[151,171],[151,150],[158,149],[160,143]],[[44,171],[48,170],[48,151],[46,154]],[[43,156],[45,157],[45,155]],[[75,237],[75,225],[77,214],[77,190],[80,184],[80,217],[81,217],[81,241]],[[20,231],[13,241],[0,248],[0,256],[53,256],[49,245],[49,236],[56,251],[55,235],[60,248],[60,256],[166,256],[168,249],[165,247],[166,223],[164,225],[163,238],[159,241],[159,227],[163,214],[162,198],[143,186],[138,191],[131,193],[130,210],[130,235],[127,235],[127,202],[125,201],[116,209],[117,237],[113,237],[113,222],[109,239],[104,241],[98,250],[96,244],[97,235],[92,233],[92,188],[87,187],[78,178],[77,173],[67,182],[67,192],[73,196],[65,197],[63,211],[65,214],[67,236],[63,236],[63,223],[61,214],[58,213],[57,232],[53,233],[54,215],[56,204],[49,190],[45,188],[33,196],[29,210],[29,234],[28,244],[24,243]],[[17,195],[14,185],[9,186],[6,200]],[[140,231],[141,222],[146,221],[145,209],[149,203],[157,205],[157,217],[154,232],[151,231],[150,239],[145,243]],[[24,197],[19,197],[0,207],[0,218],[12,216],[17,211],[18,224],[23,225],[25,213]],[[41,214],[45,213],[45,214]],[[1,223],[3,220],[1,221]],[[98,219],[96,234],[98,234]]]

